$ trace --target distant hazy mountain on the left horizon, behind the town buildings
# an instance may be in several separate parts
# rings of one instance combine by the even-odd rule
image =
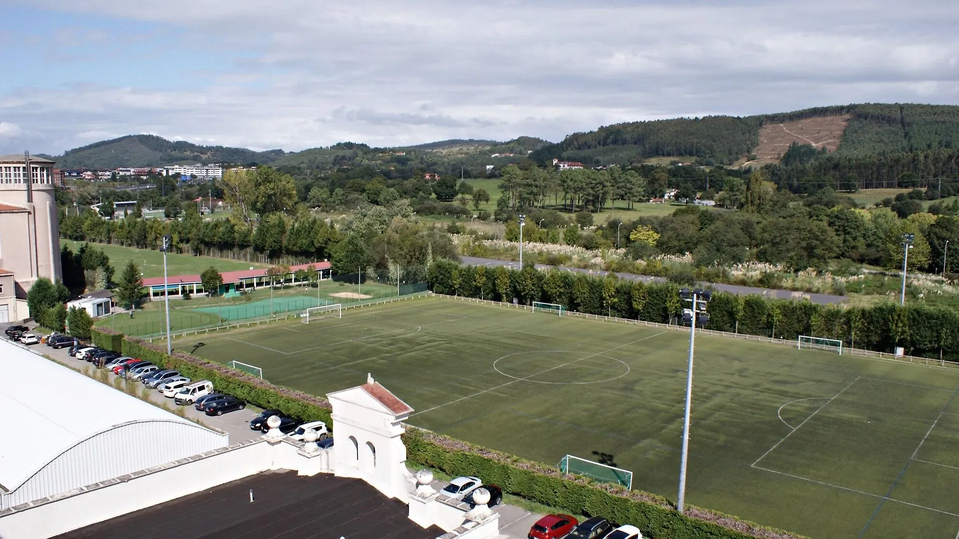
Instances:
[[[159,167],[192,163],[269,164],[285,154],[282,150],[254,152],[245,148],[199,146],[170,141],[156,135],[128,135],[50,156],[61,169],[115,169]]]

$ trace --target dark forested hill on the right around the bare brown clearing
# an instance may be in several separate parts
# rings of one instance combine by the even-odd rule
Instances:
[[[863,157],[959,147],[959,106],[865,104],[807,108],[780,114],[629,122],[573,133],[533,157],[587,164],[631,164],[657,156],[698,158],[731,165],[760,145],[764,125],[809,118],[846,117],[836,156]],[[785,149],[783,149],[785,151]]]

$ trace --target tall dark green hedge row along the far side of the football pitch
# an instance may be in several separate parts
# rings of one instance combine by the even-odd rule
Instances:
[[[676,323],[688,303],[674,283],[642,283],[570,271],[460,266],[437,261],[430,289],[466,297],[528,305],[559,303],[571,311]],[[794,340],[799,335],[843,340],[846,346],[959,361],[959,312],[947,307],[886,302],[872,307],[818,305],[807,300],[713,293],[707,329]]]

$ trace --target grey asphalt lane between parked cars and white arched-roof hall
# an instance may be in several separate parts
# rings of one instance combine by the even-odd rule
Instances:
[[[0,331],[7,329],[7,326],[9,325],[13,325],[13,324],[0,324]],[[28,325],[31,327],[35,326],[34,323],[29,323],[25,325]],[[35,332],[35,335],[40,335],[43,333],[45,332]],[[6,339],[6,334],[0,333],[0,339]],[[46,344],[32,344],[30,346],[27,346],[15,341],[14,343],[24,348],[27,348],[28,350],[31,350],[37,354],[46,356],[47,358],[52,358],[56,360],[58,363],[65,364],[66,366],[79,372],[82,372],[82,368],[84,366],[90,369],[91,371],[95,368],[92,365],[92,363],[86,363],[84,361],[71,357],[70,354],[67,353],[67,350],[69,350],[69,348],[55,349],[50,346],[47,346]],[[108,376],[109,376],[110,387],[112,387],[113,380],[117,377],[112,372],[110,372]],[[119,389],[113,389],[113,390],[119,391]],[[168,399],[164,397],[162,393],[154,389],[150,389],[149,400],[152,404],[156,406],[162,406],[162,404],[166,402],[167,406],[169,406],[170,408],[176,407],[173,399]],[[212,427],[213,429],[229,434],[230,443],[236,443],[236,442],[240,442],[248,439],[253,439],[260,435],[259,431],[251,431],[249,429],[249,420],[255,417],[257,414],[259,414],[260,411],[262,411],[258,408],[247,406],[246,410],[230,411],[222,415],[206,415],[205,413],[201,411],[197,411],[197,409],[195,409],[193,405],[182,407],[182,409],[186,411],[187,417],[196,419],[199,421],[199,423],[207,427]]]

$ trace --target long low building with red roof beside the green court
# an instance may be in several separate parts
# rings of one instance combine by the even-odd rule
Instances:
[[[296,271],[316,269],[319,279],[330,278],[331,264],[329,262],[311,262],[310,264],[296,264],[290,267],[290,272],[283,276],[283,283],[299,283],[303,279],[296,278]],[[256,290],[260,287],[269,287],[269,275],[266,268],[240,269],[237,271],[222,271],[223,284],[217,291],[220,295],[239,293],[247,290]],[[280,277],[273,277],[274,283],[280,283]],[[150,289],[151,297],[162,297],[164,287],[163,277],[148,277],[143,279],[143,286]],[[170,275],[166,280],[170,295],[204,293],[199,274]]]

